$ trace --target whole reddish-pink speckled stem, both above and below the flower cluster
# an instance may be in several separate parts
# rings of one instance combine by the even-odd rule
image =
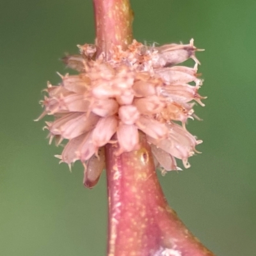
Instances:
[[[112,45],[132,40],[129,0],[93,0],[97,54],[111,58]],[[114,138],[115,139],[115,138]],[[118,155],[106,145],[108,180],[108,256],[213,256],[170,209],[157,180],[146,136],[140,150]]]

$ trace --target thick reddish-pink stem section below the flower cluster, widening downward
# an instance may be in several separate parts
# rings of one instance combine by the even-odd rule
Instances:
[[[106,147],[108,255],[213,256],[168,206],[145,136],[140,150],[116,156],[117,150],[115,144]]]

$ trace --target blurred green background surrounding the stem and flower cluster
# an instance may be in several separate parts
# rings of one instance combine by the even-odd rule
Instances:
[[[192,167],[160,177],[189,229],[218,256],[256,255],[256,1],[132,0],[134,37],[188,43],[198,52],[206,107],[188,129],[204,143]],[[40,91],[68,72],[60,58],[93,43],[90,0],[0,2],[0,255],[106,252],[106,176],[84,189],[83,168],[58,164],[33,122]]]

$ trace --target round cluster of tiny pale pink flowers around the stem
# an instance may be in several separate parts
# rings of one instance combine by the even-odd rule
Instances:
[[[159,47],[134,40],[125,50],[113,47],[108,56],[97,54],[95,45],[79,49],[80,55],[64,58],[79,74],[61,76],[57,86],[48,84],[41,102],[44,112],[38,118],[54,116],[45,127],[50,142],[68,140],[58,156],[61,161],[70,166],[80,160],[92,173],[97,162],[102,170],[104,145],[118,142],[118,154],[138,150],[141,131],[164,172],[179,170],[175,158],[188,168],[188,157],[202,141],[185,124],[196,117],[195,102],[204,106],[198,94],[202,79],[196,74],[199,50],[193,40]],[[189,58],[195,61],[193,68],[177,65]]]

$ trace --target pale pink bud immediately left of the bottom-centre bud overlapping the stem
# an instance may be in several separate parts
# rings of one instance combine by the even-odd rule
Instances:
[[[116,116],[100,118],[96,127],[93,129],[92,141],[95,147],[102,147],[111,140],[116,132],[118,121]]]

